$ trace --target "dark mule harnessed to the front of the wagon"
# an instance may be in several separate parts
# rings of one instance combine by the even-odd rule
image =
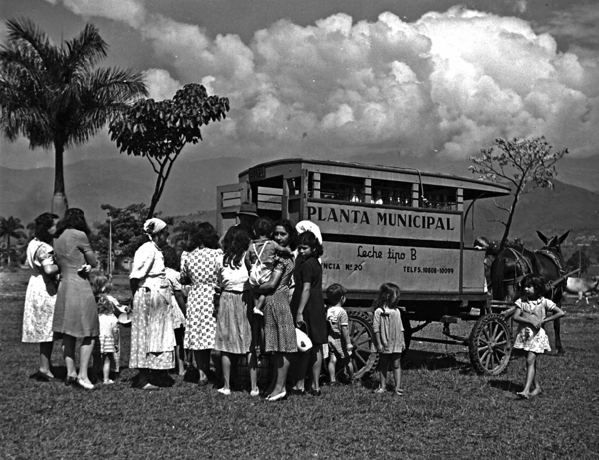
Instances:
[[[520,295],[519,283],[525,275],[529,273],[540,273],[543,275],[545,283],[553,282],[565,274],[565,261],[561,252],[561,244],[568,237],[570,231],[565,232],[561,237],[554,236],[547,238],[540,231],[537,235],[544,246],[537,251],[528,249],[517,250],[506,248],[501,250],[497,258],[491,265],[491,286],[494,300],[516,301]],[[544,296],[555,302],[561,308],[564,300],[565,279],[552,285]],[[516,308],[510,308],[504,312],[507,318],[515,313]],[[555,347],[558,355],[564,354],[564,347],[561,343],[560,335],[561,325],[559,319],[553,321],[553,331],[555,331]]]

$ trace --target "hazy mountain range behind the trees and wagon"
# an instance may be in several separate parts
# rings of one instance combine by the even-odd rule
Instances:
[[[370,158],[368,162],[377,164],[377,160],[379,164],[389,164],[386,158]],[[362,158],[351,161],[367,162]],[[164,216],[178,216],[176,220],[214,222],[216,186],[237,182],[237,174],[257,162],[259,161],[255,159],[231,157],[175,164],[157,210],[162,211]],[[597,168],[597,162],[592,162],[589,168],[591,171]],[[572,178],[572,173],[576,173],[577,170],[578,168],[570,168],[568,178]],[[23,223],[28,223],[41,212],[49,210],[53,177],[52,168],[13,170],[0,167],[0,216],[19,217]],[[591,174],[586,177],[593,178],[597,175]],[[155,180],[155,173],[142,158],[85,160],[65,165],[69,206],[82,208],[90,224],[105,219],[105,213],[100,208],[102,204],[125,207],[132,203],[149,203]],[[535,189],[522,196],[516,208],[510,237],[520,237],[525,242],[538,246],[539,241],[536,241],[535,233],[537,229],[546,235],[561,234],[571,229],[569,240],[576,235],[599,236],[597,190],[588,190],[557,180],[553,183],[553,190]],[[501,198],[495,202],[507,207],[511,199]],[[492,239],[500,238],[503,226],[491,221],[505,217],[505,213],[498,211],[491,200],[476,202],[468,214],[467,238],[471,234],[486,235]]]

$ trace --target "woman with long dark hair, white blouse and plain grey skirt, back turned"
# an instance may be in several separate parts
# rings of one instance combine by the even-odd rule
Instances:
[[[223,395],[231,394],[232,365],[237,363],[240,355],[250,351],[252,343],[252,295],[243,261],[249,241],[245,229],[240,226],[229,228],[223,240],[225,253],[216,259],[214,265],[220,290],[214,349],[220,351],[223,388],[219,389],[219,393]],[[252,395],[258,395],[258,391]]]

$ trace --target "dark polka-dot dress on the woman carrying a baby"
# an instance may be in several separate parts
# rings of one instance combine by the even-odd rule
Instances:
[[[289,281],[294,271],[293,259],[275,256],[274,271],[282,275],[274,292],[264,298],[264,349],[267,353],[295,353],[298,345],[294,318],[289,309]]]

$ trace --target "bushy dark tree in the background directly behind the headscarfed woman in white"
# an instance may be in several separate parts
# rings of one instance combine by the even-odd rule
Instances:
[[[108,260],[108,238],[112,226],[113,248],[116,244],[125,256],[132,256],[140,244],[147,241],[143,231],[143,223],[147,219],[148,207],[143,204],[130,204],[125,208],[117,208],[110,204],[102,204],[109,219],[97,225],[98,232],[92,236],[92,247],[98,252],[102,265]],[[161,213],[153,214],[158,217]],[[168,225],[173,225],[173,217],[163,219]]]

